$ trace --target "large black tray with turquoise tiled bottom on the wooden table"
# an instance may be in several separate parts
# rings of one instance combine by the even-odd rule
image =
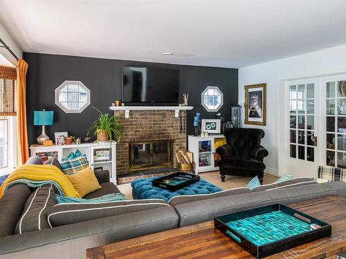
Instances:
[[[255,242],[252,242],[251,240],[249,240],[253,238],[253,236],[255,235],[251,237],[251,233],[246,232],[247,233],[246,235],[248,236],[247,238],[244,233],[243,234],[239,233],[242,230],[239,230],[239,231],[235,230],[234,222],[237,220],[253,218],[257,215],[271,213],[274,211],[281,211],[285,213],[286,215],[293,216],[295,218],[294,220],[298,219],[302,221],[302,224],[318,224],[321,227],[319,229],[313,229],[313,230],[306,231],[304,233],[298,233],[293,236],[289,236],[286,238],[282,238],[280,240],[275,240],[274,242],[268,242],[266,244],[261,244],[261,245],[256,245]],[[229,223],[232,224],[232,222],[233,222],[233,229],[231,229],[227,225]],[[257,226],[255,225],[255,227],[260,227],[260,226],[261,226],[260,224],[258,224]],[[231,240],[239,244],[239,246],[245,249],[246,251],[248,251],[248,253],[251,253],[251,255],[255,256],[255,258],[264,258],[266,256],[271,256],[274,253],[280,253],[282,251],[291,249],[293,247],[298,247],[302,244],[307,244],[309,242],[318,240],[320,238],[331,236],[331,224],[322,222],[321,220],[313,218],[305,213],[302,213],[300,211],[287,207],[284,204],[273,204],[266,207],[259,207],[256,209],[249,209],[249,210],[240,211],[237,213],[221,215],[219,217],[214,218],[214,227],[215,229],[218,229],[219,231],[221,231],[221,233],[224,233],[225,236],[227,236],[228,238],[230,238]],[[268,227],[266,227],[266,231],[270,231],[268,230]],[[253,233],[255,233],[255,231]]]

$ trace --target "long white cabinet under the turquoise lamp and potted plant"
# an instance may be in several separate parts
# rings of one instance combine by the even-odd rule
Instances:
[[[111,182],[116,182],[116,142],[114,141],[53,146],[33,144],[30,146],[30,155],[39,155],[43,161],[55,157],[61,162],[62,158],[68,157],[71,152],[75,153],[77,149],[82,155],[86,155],[92,169],[108,170]]]

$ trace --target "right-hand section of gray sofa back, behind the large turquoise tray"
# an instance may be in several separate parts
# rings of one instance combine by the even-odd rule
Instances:
[[[328,195],[340,195],[346,198],[346,182],[326,182],[271,191],[231,195],[179,204],[174,206],[174,209],[179,215],[179,226],[185,227],[190,224],[213,220],[215,216],[219,215],[275,203],[290,204],[302,202]]]

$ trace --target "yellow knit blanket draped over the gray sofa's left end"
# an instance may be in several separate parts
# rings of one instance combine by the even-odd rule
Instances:
[[[64,195],[66,197],[81,198],[77,191],[73,188],[69,178],[67,178],[62,171],[56,166],[51,164],[36,165],[36,164],[24,164],[19,166],[13,171],[8,178],[0,186],[0,199],[3,196],[6,186],[10,182],[26,179],[32,181],[46,181],[50,180],[60,185]]]

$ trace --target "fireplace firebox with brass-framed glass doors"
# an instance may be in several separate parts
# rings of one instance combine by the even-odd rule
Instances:
[[[172,140],[129,143],[129,171],[172,166]]]

